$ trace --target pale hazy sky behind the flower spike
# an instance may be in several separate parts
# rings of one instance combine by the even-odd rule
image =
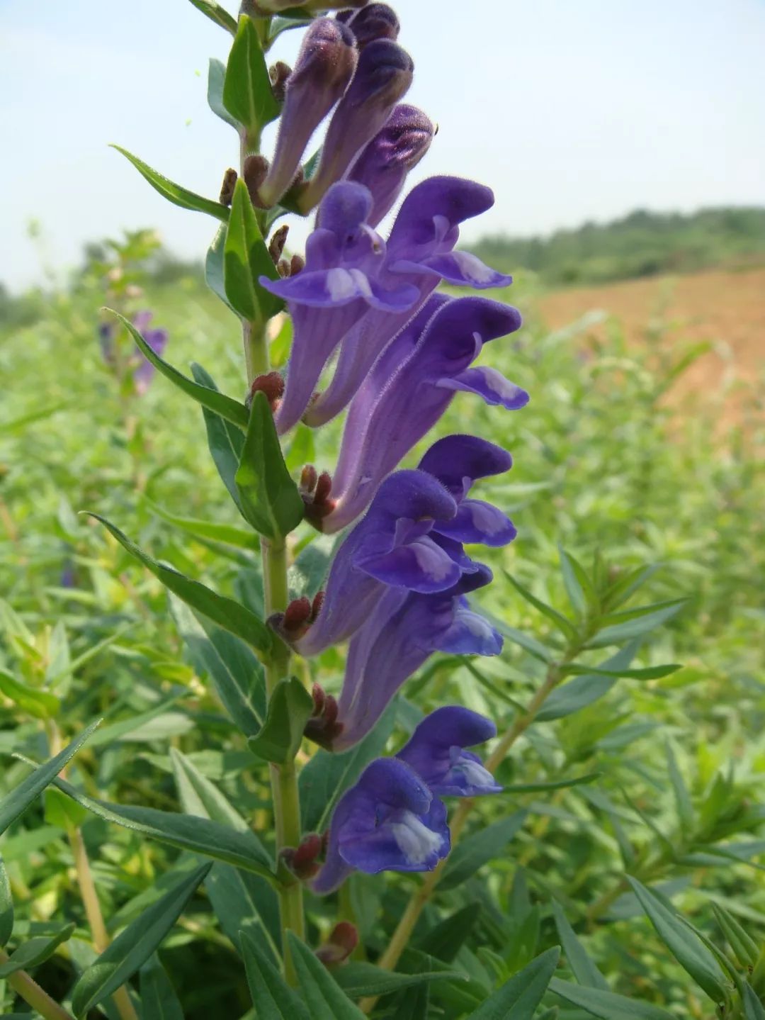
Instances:
[[[406,101],[439,124],[413,181],[454,173],[496,195],[466,240],[765,204],[765,0],[393,6],[416,65]],[[274,58],[289,62],[299,32],[282,40]],[[167,204],[108,145],[217,198],[237,139],[207,107],[207,63],[229,41],[186,0],[0,0],[0,280],[63,273],[122,228],[204,255],[215,222]]]

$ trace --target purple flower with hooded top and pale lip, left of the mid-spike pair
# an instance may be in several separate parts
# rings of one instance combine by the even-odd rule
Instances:
[[[294,642],[300,655],[348,639],[390,588],[440,592],[455,584],[459,566],[430,537],[455,513],[455,501],[432,475],[396,471],[386,478],[334,557],[318,618]]]

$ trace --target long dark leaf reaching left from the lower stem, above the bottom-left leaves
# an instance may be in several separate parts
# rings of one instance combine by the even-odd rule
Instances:
[[[194,815],[98,801],[75,789],[63,779],[56,779],[55,784],[67,797],[107,822],[132,829],[133,832],[165,843],[169,847],[190,850],[235,868],[243,868],[244,871],[252,871],[253,874],[278,884],[260,845],[243,832]]]

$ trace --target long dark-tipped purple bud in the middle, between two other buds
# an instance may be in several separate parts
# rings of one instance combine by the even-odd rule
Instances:
[[[319,168],[297,199],[302,212],[313,209],[345,174],[412,85],[414,70],[408,53],[389,39],[375,40],[363,50],[353,80],[329,122]]]

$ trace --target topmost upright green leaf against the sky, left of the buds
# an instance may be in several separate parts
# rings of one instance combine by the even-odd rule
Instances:
[[[262,129],[279,115],[258,30],[247,15],[239,18],[228,55],[223,104],[253,138],[258,138]]]

